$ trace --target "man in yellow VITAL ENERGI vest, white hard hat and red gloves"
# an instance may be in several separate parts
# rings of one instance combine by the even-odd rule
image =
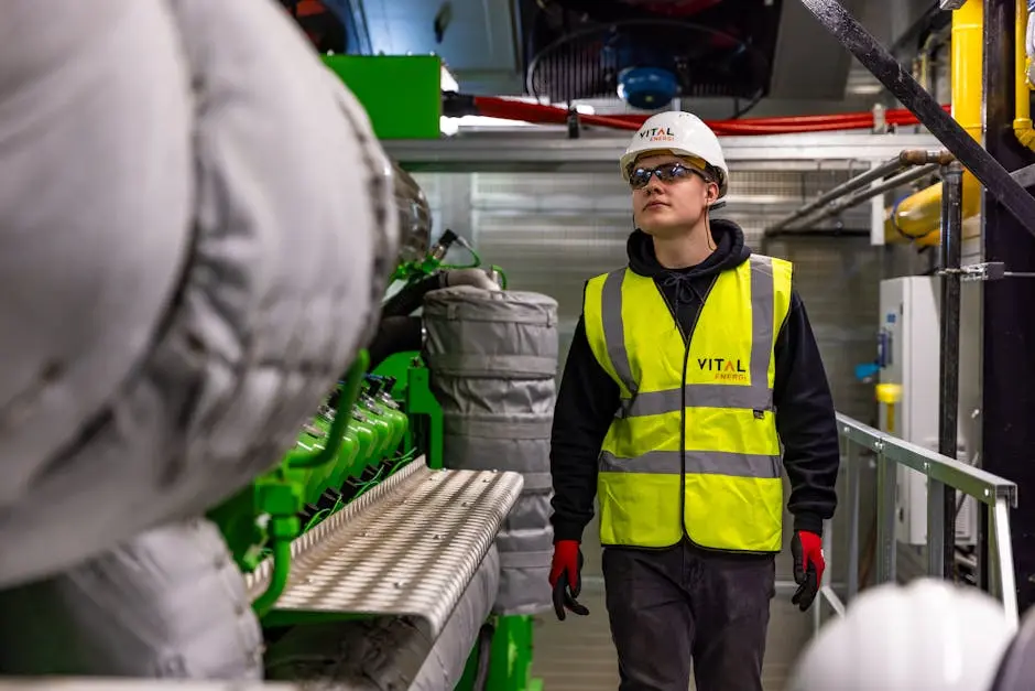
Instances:
[[[620,691],[759,691],[781,549],[783,467],[807,609],[837,505],[834,403],[792,264],[709,218],[729,171],[697,117],[649,119],[621,160],[629,266],[586,284],[554,418],[557,616],[588,614],[582,530],[600,541]],[[783,451],[781,451],[783,446]]]

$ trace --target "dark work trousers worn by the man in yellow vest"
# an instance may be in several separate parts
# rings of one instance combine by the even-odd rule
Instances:
[[[772,555],[606,548],[619,691],[762,691]]]

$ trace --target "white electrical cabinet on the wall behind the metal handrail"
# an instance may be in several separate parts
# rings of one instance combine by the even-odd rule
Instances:
[[[938,450],[940,349],[940,284],[933,277],[881,281],[881,384],[897,384],[902,398],[881,406],[881,430],[918,446]],[[969,462],[966,440],[959,438],[959,461]],[[906,544],[927,543],[927,478],[898,466],[896,537]],[[956,520],[958,544],[973,544],[977,509],[968,497]]]

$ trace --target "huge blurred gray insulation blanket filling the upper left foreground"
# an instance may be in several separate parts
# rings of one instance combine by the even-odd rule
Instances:
[[[204,514],[368,339],[391,165],[273,0],[3,0],[0,587]]]

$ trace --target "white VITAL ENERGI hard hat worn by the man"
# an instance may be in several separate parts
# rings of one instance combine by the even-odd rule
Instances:
[[[671,110],[647,118],[643,127],[633,134],[629,148],[622,155],[622,175],[629,181],[630,168],[636,159],[651,151],[671,151],[676,155],[700,159],[719,173],[719,196],[726,196],[730,171],[719,138],[696,115]]]

